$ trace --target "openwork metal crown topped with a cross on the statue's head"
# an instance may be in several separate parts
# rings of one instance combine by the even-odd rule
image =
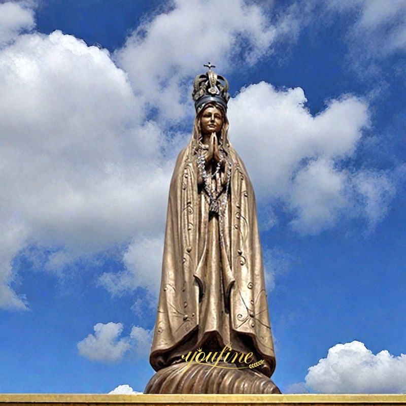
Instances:
[[[209,62],[203,66],[207,67],[208,71],[205,74],[197,75],[193,81],[192,96],[196,113],[211,101],[219,103],[227,110],[227,102],[230,98],[227,93],[227,79],[212,71],[212,67],[216,67],[216,65]]]

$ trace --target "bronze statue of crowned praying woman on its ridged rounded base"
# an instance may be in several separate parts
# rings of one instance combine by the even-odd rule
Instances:
[[[193,84],[192,137],[170,186],[150,355],[157,374],[145,392],[280,393],[269,379],[275,354],[254,191],[228,140],[228,82],[205,66]],[[246,358],[225,368],[223,349],[231,347]],[[217,357],[220,364],[208,370],[194,362],[179,371],[187,354],[202,349],[218,354],[212,363]],[[243,359],[258,366],[247,369]]]

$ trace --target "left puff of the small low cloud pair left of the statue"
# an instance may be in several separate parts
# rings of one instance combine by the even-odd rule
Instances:
[[[131,344],[129,339],[118,339],[123,331],[121,323],[97,323],[94,335],[89,334],[77,345],[79,354],[91,361],[119,361],[123,358]]]

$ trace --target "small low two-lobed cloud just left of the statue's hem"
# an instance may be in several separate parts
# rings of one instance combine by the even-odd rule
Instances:
[[[145,358],[149,354],[152,331],[133,326],[128,336],[120,338],[122,331],[122,323],[97,323],[94,334],[77,344],[79,354],[91,361],[114,362],[122,360],[132,349],[132,358]]]

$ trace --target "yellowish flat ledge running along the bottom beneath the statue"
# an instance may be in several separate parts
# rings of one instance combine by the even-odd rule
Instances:
[[[278,406],[334,406],[334,405],[405,405],[404,395],[100,395],[100,394],[0,394],[0,406],[154,406],[181,405],[227,406],[278,405]]]

